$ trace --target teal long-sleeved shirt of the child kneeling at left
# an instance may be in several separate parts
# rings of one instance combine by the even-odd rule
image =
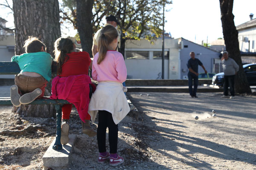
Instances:
[[[11,61],[17,62],[20,66],[20,73],[35,72],[44,77],[48,82],[52,78],[52,57],[46,52],[24,53],[20,56],[13,56]]]

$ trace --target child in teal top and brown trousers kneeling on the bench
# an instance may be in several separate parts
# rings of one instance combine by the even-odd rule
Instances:
[[[29,37],[23,48],[26,53],[11,59],[18,63],[21,70],[15,75],[15,85],[11,87],[11,101],[16,107],[43,97],[47,82],[52,78],[53,59],[46,52],[44,43],[36,37]]]

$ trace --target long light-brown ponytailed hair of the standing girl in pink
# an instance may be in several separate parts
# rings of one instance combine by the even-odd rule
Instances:
[[[97,64],[100,64],[105,59],[109,44],[118,37],[116,28],[110,25],[103,27],[100,33],[101,35],[99,37],[98,46],[99,58],[97,60]]]

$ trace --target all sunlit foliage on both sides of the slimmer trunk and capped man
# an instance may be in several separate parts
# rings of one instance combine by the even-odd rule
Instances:
[[[141,37],[152,40],[160,37],[163,23],[163,3],[170,0],[94,0],[93,32],[102,26],[103,17],[113,14],[121,23],[119,30],[126,40],[139,40]],[[61,4],[61,23],[76,25],[76,0],[63,0]]]

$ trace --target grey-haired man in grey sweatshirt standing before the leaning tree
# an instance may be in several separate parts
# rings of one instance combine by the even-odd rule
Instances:
[[[228,57],[228,52],[223,52],[223,59],[221,61],[223,72],[224,72],[224,96],[223,98],[228,97],[228,86],[230,86],[230,99],[233,99],[235,96],[235,76],[237,71],[239,71],[239,65],[236,64],[235,60]]]

